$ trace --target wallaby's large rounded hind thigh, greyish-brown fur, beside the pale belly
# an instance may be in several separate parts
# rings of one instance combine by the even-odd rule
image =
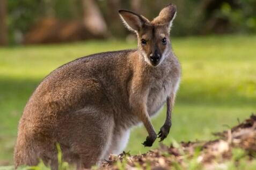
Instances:
[[[96,165],[111,142],[114,127],[112,114],[87,107],[71,113],[62,124],[61,141],[70,144],[69,149],[63,151],[63,159],[76,163],[78,169]],[[68,131],[71,131],[69,136],[65,133]],[[78,159],[72,160],[69,155],[77,155]]]

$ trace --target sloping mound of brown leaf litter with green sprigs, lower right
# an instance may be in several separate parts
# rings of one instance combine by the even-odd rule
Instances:
[[[229,163],[232,167],[239,167],[241,159],[246,165],[255,161],[256,115],[252,114],[239,125],[213,135],[216,140],[173,141],[170,146],[160,144],[158,149],[144,154],[111,154],[98,169],[229,169]]]

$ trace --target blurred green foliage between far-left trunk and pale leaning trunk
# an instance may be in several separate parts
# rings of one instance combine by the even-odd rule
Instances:
[[[44,17],[56,17],[61,20],[78,18],[82,11],[79,2],[79,0],[9,0],[7,19],[9,42],[20,43],[21,36]]]

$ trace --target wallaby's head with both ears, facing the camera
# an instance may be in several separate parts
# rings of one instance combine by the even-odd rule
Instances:
[[[125,26],[137,34],[138,51],[145,61],[152,66],[159,65],[172,50],[169,33],[176,6],[167,5],[152,21],[127,10],[119,10],[119,14]]]

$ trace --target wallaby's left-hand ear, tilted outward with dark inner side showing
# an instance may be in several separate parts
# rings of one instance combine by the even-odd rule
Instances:
[[[119,10],[118,12],[125,26],[135,33],[141,30],[146,22],[149,22],[148,19],[134,12],[127,10]]]

